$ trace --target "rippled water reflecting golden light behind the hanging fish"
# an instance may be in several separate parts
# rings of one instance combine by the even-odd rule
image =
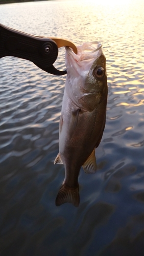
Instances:
[[[116,1],[115,1],[116,2]],[[144,254],[144,5],[45,1],[0,6],[0,23],[31,34],[99,40],[107,59],[106,127],[98,172],[79,176],[81,202],[55,206],[65,76],[0,59],[0,254]],[[57,67],[64,68],[64,51]]]

